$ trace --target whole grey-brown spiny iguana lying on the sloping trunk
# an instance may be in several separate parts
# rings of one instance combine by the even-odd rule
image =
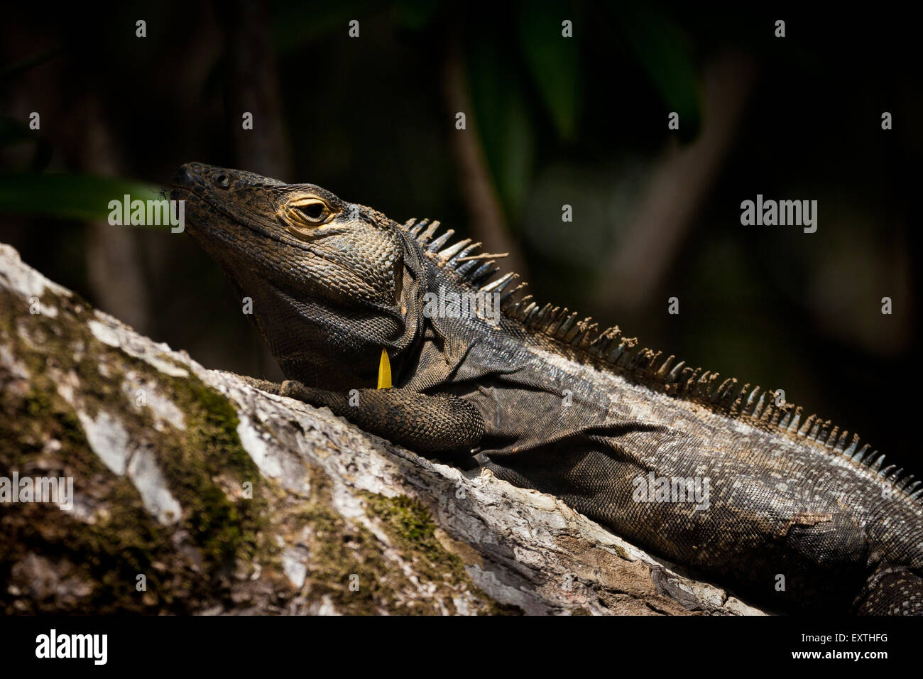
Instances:
[[[202,164],[173,197],[253,298],[276,391],[417,451],[473,453],[776,609],[923,612],[923,484],[855,435],[540,307],[510,275],[486,283],[491,256],[434,239],[438,223]],[[426,293],[478,290],[501,296],[498,318],[427,312]],[[366,389],[382,349],[396,388]]]

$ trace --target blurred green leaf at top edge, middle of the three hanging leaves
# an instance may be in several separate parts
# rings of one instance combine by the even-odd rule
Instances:
[[[580,108],[578,42],[561,35],[561,22],[573,20],[568,4],[522,2],[518,9],[519,42],[526,66],[542,96],[558,136],[573,139]]]

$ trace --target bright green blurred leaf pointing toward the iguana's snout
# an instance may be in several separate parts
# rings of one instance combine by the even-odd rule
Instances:
[[[94,175],[0,175],[0,212],[84,221],[109,217],[110,200],[160,200],[161,187]],[[153,228],[168,228],[167,226]]]

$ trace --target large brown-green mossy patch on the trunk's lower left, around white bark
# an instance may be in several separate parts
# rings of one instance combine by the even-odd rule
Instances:
[[[69,564],[90,594],[64,601],[52,592],[17,596],[4,588],[0,611],[84,612],[91,605],[94,612],[188,612],[221,601],[235,564],[278,552],[262,536],[267,491],[260,493],[258,469],[237,436],[234,406],[194,375],[172,378],[104,345],[90,333],[95,317],[78,299],[46,294],[42,304],[57,314],[30,314],[23,299],[0,291],[0,345],[29,373],[24,381],[0,370],[0,475],[72,477],[90,516],[42,503],[5,508],[0,580],[16,579],[14,571],[40,555]],[[104,410],[125,428],[130,445],[154,455],[183,510],[177,524],[160,524],[131,480],[115,476],[90,449],[59,390],[68,373],[76,376],[86,416]],[[156,430],[150,408],[136,406],[123,389],[133,379],[172,401],[186,428]],[[254,484],[253,499],[241,497],[245,480]],[[147,591],[136,588],[138,575],[147,578]]]

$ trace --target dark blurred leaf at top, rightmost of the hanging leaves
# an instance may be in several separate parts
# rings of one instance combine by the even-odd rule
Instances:
[[[701,127],[699,76],[679,26],[649,6],[625,5],[617,26],[670,111],[679,114],[679,135],[689,140]]]

